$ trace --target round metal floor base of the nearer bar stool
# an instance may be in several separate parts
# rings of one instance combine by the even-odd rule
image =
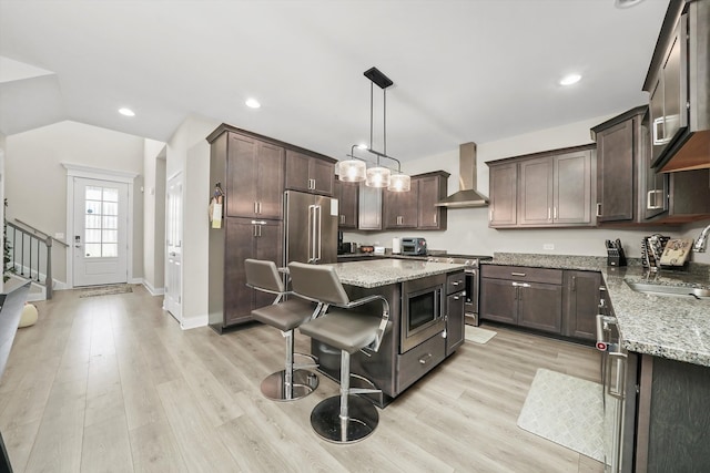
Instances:
[[[379,423],[379,414],[372,402],[359,395],[347,397],[348,418],[341,419],[341,397],[321,401],[311,412],[315,433],[333,443],[353,443],[372,434]]]

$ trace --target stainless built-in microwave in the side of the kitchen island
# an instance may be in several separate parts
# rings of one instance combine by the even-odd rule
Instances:
[[[446,275],[403,284],[400,352],[404,353],[443,332]]]

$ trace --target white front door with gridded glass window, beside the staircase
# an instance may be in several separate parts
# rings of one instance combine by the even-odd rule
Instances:
[[[126,282],[129,185],[73,179],[73,286]]]

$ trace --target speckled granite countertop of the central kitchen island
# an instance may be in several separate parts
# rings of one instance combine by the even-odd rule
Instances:
[[[325,266],[325,265],[324,265]],[[373,258],[367,261],[337,263],[333,266],[341,282],[374,288],[427,276],[464,270],[464,265],[422,261],[416,259]]]

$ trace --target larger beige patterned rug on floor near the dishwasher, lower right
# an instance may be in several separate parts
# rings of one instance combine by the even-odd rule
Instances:
[[[518,426],[604,462],[601,384],[538,369]]]

